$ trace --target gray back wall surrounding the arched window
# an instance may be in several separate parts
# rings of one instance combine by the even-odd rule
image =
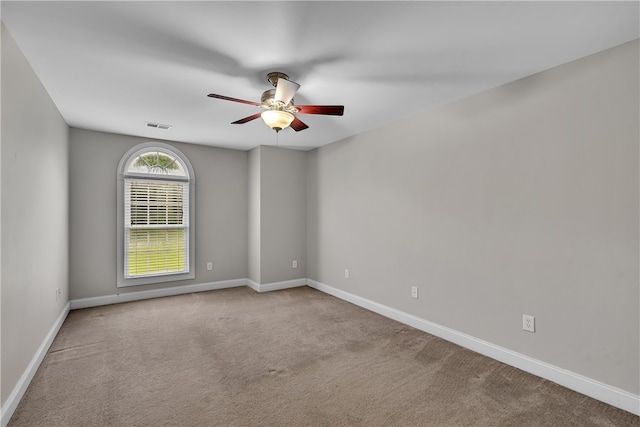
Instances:
[[[196,177],[196,278],[116,287],[116,174],[126,151],[148,138],[72,128],[70,171],[71,299],[247,277],[247,152],[167,142]],[[207,271],[206,263],[213,262]]]

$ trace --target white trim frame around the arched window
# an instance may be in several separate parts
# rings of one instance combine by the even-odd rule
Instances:
[[[165,177],[162,175],[145,175],[145,174],[127,174],[126,168],[129,164],[129,161],[136,157],[139,154],[142,154],[146,151],[157,150],[161,153],[166,153],[172,157],[178,159],[178,161],[182,164],[185,172],[188,177],[185,179],[184,177]],[[176,274],[166,274],[163,273],[161,275],[154,276],[143,276],[143,277],[135,277],[135,278],[126,278],[124,275],[124,240],[125,240],[125,224],[124,224],[124,180],[125,178],[132,177],[140,177],[151,180],[171,180],[177,182],[185,182],[188,180],[189,182],[189,272],[187,273],[176,273]],[[119,288],[127,287],[127,286],[138,286],[138,285],[149,285],[154,283],[164,283],[164,282],[175,282],[179,280],[189,280],[194,279],[196,277],[196,269],[195,269],[195,259],[196,259],[196,241],[195,241],[195,183],[196,178],[193,172],[193,167],[191,163],[187,159],[180,150],[161,142],[145,142],[142,144],[138,144],[135,147],[132,147],[128,150],[122,159],[120,159],[120,163],[118,164],[118,189],[117,189],[117,227],[118,227],[118,238],[117,238],[117,284],[116,286]]]

